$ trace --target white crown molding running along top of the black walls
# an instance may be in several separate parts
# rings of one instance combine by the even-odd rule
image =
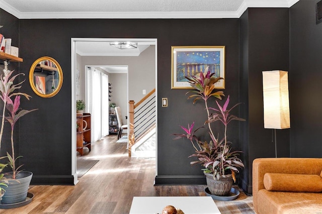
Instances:
[[[222,19],[240,18],[248,8],[290,8],[299,0],[244,0],[235,12],[57,12],[22,13],[0,0],[0,8],[18,19]]]

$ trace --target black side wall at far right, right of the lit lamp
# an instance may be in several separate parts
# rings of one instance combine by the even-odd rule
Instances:
[[[315,0],[290,9],[290,113],[292,157],[322,157],[322,23]]]

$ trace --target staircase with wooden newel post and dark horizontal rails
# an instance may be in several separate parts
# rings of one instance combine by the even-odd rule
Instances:
[[[155,88],[129,101],[129,157],[155,157]]]

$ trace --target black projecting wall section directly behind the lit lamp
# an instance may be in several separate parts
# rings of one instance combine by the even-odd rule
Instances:
[[[252,191],[253,160],[275,157],[272,130],[264,129],[262,71],[289,71],[289,9],[248,9],[240,17],[240,123],[245,170],[240,183]],[[277,156],[289,157],[289,129],[277,130]]]

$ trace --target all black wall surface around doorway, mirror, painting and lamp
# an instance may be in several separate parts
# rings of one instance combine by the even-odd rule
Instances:
[[[15,38],[24,59],[10,69],[27,74],[22,91],[33,96],[22,106],[39,109],[19,122],[16,137],[24,169],[34,173],[33,184],[73,183],[70,38],[77,37],[157,39],[157,93],[169,102],[168,108],[158,106],[157,185],[205,183],[201,168],[189,164],[190,143],[173,140],[173,133],[182,133],[180,125],[195,121],[202,126],[206,113],[202,102],[187,100],[188,90],[171,89],[171,46],[226,46],[224,93],[230,104],[242,102],[233,114],[247,120],[228,127],[233,149],[244,151],[246,168],[239,182],[245,190],[252,191],[253,160],[275,157],[272,130],[264,129],[262,71],[289,71],[291,129],[277,130],[278,156],[322,157],[322,24],[315,25],[314,13],[313,0],[300,0],[290,9],[250,8],[239,19],[18,20],[0,10],[5,26],[0,32]],[[52,98],[37,96],[28,83],[29,68],[41,56],[55,58],[63,70],[62,88]],[[207,129],[198,133],[209,140]]]

